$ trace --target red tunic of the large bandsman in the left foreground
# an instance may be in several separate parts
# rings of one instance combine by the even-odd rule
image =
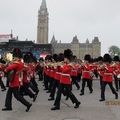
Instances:
[[[8,66],[6,68],[6,72],[9,72],[11,70],[15,70],[15,72],[16,72],[16,74],[14,76],[14,80],[12,82],[10,82],[10,84],[9,84],[10,87],[19,87],[19,86],[21,86],[19,71],[21,71],[22,68],[23,68],[23,63],[21,62],[21,60],[12,63],[10,66]]]

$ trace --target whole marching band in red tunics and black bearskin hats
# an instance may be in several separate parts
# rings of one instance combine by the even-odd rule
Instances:
[[[64,53],[59,55],[47,56],[43,61],[38,61],[31,53],[22,55],[19,48],[15,48],[12,54],[13,60],[11,64],[8,64],[10,61],[8,62],[7,60],[6,64],[0,64],[1,91],[6,90],[2,81],[3,72],[6,74],[6,77],[11,70],[15,72],[13,80],[8,81],[9,87],[3,111],[12,110],[12,94],[26,106],[26,112],[29,111],[32,103],[28,102],[23,96],[28,95],[30,98],[33,98],[33,102],[36,101],[39,93],[38,84],[35,79],[36,73],[40,74],[39,81],[43,81],[44,90],[47,90],[46,93],[50,94],[48,100],[54,100],[54,106],[51,110],[60,109],[62,94],[66,97],[66,100],[71,99],[72,103],[75,104],[74,108],[78,108],[81,102],[73,94],[72,86],[76,85],[77,90],[80,90],[80,96],[83,96],[85,95],[87,83],[89,93],[92,94],[92,84],[95,77],[100,81],[100,102],[105,101],[105,88],[107,84],[115,95],[115,99],[118,99],[118,91],[120,89],[119,56],[115,56],[112,59],[106,53],[103,57],[99,56],[96,59],[92,59],[89,54],[86,54],[84,61],[79,62],[70,49],[64,50]],[[55,93],[57,93],[56,96]]]

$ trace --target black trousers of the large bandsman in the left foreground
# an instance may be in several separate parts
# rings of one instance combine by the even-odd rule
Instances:
[[[9,87],[7,94],[6,94],[6,99],[5,99],[5,107],[6,108],[12,108],[12,94],[14,97],[20,101],[23,105],[29,106],[30,103],[26,101],[19,93],[19,87]]]

